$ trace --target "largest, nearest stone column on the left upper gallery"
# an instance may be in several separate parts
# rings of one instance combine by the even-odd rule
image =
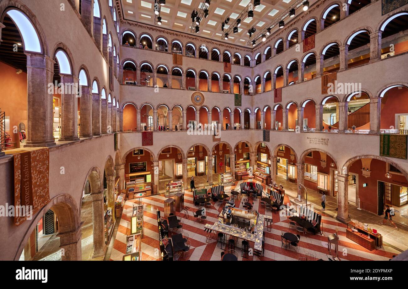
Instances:
[[[27,55],[27,142],[24,147],[52,147],[53,99],[48,83],[53,83],[54,61],[48,56]],[[1,150],[0,150],[1,151]]]

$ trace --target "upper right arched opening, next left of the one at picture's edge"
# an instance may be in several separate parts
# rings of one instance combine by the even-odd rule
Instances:
[[[348,38],[348,67],[365,64],[370,61],[370,33],[360,30]]]

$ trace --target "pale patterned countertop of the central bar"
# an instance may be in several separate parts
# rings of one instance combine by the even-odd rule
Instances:
[[[230,209],[232,213],[231,218],[233,218],[233,215],[236,215],[236,216],[239,216],[239,218],[255,219],[256,223],[255,223],[254,233],[251,233],[250,231],[245,231],[237,227],[229,226],[226,224],[221,224],[218,222],[215,222],[214,225],[206,224],[205,227],[207,229],[211,229],[211,230],[214,230],[220,233],[224,233],[228,236],[237,237],[242,240],[247,240],[248,242],[254,242],[254,249],[257,251],[262,251],[262,236],[264,232],[264,220],[265,219],[272,220],[272,217],[262,215],[262,214],[255,215],[255,213],[249,213],[246,210],[237,209],[233,207],[230,207]],[[220,213],[220,216],[219,216],[219,219],[221,218],[224,220],[224,215],[222,213]],[[225,220],[229,222],[231,218],[226,218]]]

